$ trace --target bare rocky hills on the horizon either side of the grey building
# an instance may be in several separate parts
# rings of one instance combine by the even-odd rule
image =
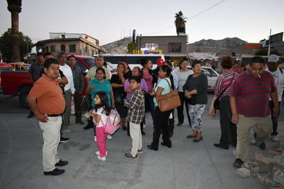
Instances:
[[[105,48],[110,54],[128,54],[128,43],[132,41],[131,37],[120,39],[119,41],[114,41],[112,43],[105,44],[101,46]],[[225,38],[221,40],[213,39],[202,39],[201,41],[196,41],[194,43],[187,44],[189,52],[232,52],[238,51],[236,47],[239,44],[247,43],[237,37]]]

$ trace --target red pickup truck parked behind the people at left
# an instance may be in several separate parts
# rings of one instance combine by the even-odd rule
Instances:
[[[88,70],[94,66],[94,57],[76,56],[76,58],[76,65],[79,66],[83,72],[83,79],[86,87],[87,81],[85,79],[85,74],[87,74]],[[12,97],[19,95],[21,105],[25,108],[29,108],[27,97],[33,82],[28,71],[4,71],[1,73],[0,81],[3,94],[9,94],[12,95]]]

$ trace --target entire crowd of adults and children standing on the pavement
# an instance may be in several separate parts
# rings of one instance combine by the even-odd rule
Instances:
[[[80,110],[84,89],[82,73],[75,66],[75,56],[70,56],[70,66],[66,64],[66,58],[65,52],[59,52],[57,59],[46,58],[44,63],[38,63],[34,70],[43,71],[39,72],[37,79],[33,79],[34,86],[28,95],[30,109],[39,119],[43,130],[44,175],[61,175],[64,170],[56,167],[68,164],[68,161],[59,159],[57,148],[60,141],[69,140],[62,137],[60,131],[70,131],[68,124],[72,97],[75,101],[76,123],[83,124]],[[265,149],[264,140],[270,135],[272,121],[271,135],[278,134],[274,124],[277,125],[279,101],[283,91],[278,87],[284,85],[284,77],[275,60],[276,57],[270,57],[268,70],[265,70],[265,59],[254,57],[250,68],[243,72],[232,69],[234,61],[231,57],[225,57],[221,62],[223,74],[217,79],[214,89],[216,96],[220,96],[221,139],[214,146],[229,149],[231,144],[236,147],[235,167],[241,166],[247,153],[250,128],[254,128],[255,143],[261,149]],[[201,62],[194,61],[192,70],[189,70],[187,60],[182,60],[180,69],[176,72],[172,72],[170,61],[162,59],[158,60],[155,70],[152,70],[150,59],[141,60],[141,65],[142,69],[135,67],[130,70],[128,62],[121,61],[117,66],[117,73],[111,76],[103,57],[99,56],[95,59],[95,66],[85,76],[88,81],[85,94],[90,94],[91,106],[90,119],[84,129],[94,128],[94,141],[99,148],[96,154],[101,161],[105,161],[108,155],[105,139],[111,136],[105,132],[104,127],[110,110],[114,108],[121,117],[121,127],[128,130],[128,135],[132,138],[132,148],[125,153],[125,158],[138,159],[138,154],[143,153],[145,110],[150,110],[153,121],[150,122],[154,125],[152,143],[147,148],[159,150],[161,134],[161,145],[172,147],[170,137],[174,134],[174,110],[163,112],[156,101],[156,97],[167,94],[172,89],[179,90],[181,99],[181,106],[177,108],[177,126],[184,123],[185,105],[188,123],[192,126],[192,134],[187,135],[187,138],[193,139],[195,143],[203,139],[202,116],[207,104],[208,83],[206,75],[202,73]],[[30,70],[31,75],[34,70]],[[274,140],[276,141],[276,137]]]

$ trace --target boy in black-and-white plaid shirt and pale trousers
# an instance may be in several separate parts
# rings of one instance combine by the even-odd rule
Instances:
[[[126,159],[138,159],[137,153],[143,153],[140,123],[145,115],[145,98],[140,88],[141,77],[132,76],[129,81],[130,89],[133,90],[130,102],[127,104],[132,149],[130,152],[125,153],[124,157]]]

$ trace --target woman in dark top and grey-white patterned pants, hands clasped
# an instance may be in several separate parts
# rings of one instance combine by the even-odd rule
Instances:
[[[206,75],[202,73],[200,61],[192,63],[192,70],[194,74],[187,77],[183,86],[185,97],[188,99],[188,114],[190,115],[193,130],[192,135],[188,135],[187,138],[194,138],[194,142],[199,142],[203,139],[201,135],[202,116],[207,104],[206,90],[208,81]]]

